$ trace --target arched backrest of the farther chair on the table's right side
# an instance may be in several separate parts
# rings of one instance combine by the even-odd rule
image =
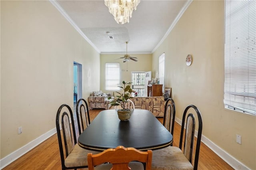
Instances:
[[[173,135],[175,121],[175,103],[172,98],[167,99],[164,107],[164,127]]]

